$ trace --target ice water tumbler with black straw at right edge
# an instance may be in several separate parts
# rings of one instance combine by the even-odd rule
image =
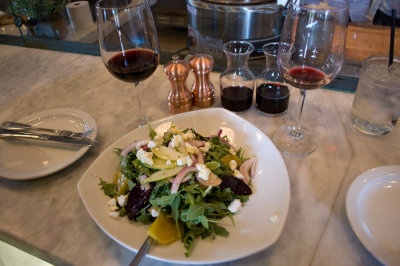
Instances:
[[[400,60],[389,67],[385,56],[367,58],[361,67],[353,100],[351,121],[370,135],[384,135],[400,116]]]

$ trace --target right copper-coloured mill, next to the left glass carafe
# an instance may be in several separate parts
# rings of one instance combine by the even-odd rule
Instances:
[[[197,54],[189,60],[193,69],[195,81],[192,87],[193,104],[198,107],[208,107],[214,103],[214,86],[210,81],[210,72],[214,59],[210,55]]]

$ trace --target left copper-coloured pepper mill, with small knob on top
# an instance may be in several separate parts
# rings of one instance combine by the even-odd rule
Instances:
[[[178,55],[173,55],[172,61],[164,66],[164,73],[171,83],[171,90],[168,94],[168,109],[173,114],[192,110],[192,93],[186,86],[189,71],[188,64],[179,60]]]

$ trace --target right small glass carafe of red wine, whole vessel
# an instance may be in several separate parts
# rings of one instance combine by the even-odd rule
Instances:
[[[290,91],[277,64],[279,43],[262,47],[266,67],[256,77],[256,108],[267,116],[280,116],[289,106]]]

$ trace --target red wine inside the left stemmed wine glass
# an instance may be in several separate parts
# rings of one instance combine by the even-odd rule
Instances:
[[[158,54],[149,49],[130,49],[115,54],[106,67],[116,78],[126,82],[147,79],[158,66]]]

